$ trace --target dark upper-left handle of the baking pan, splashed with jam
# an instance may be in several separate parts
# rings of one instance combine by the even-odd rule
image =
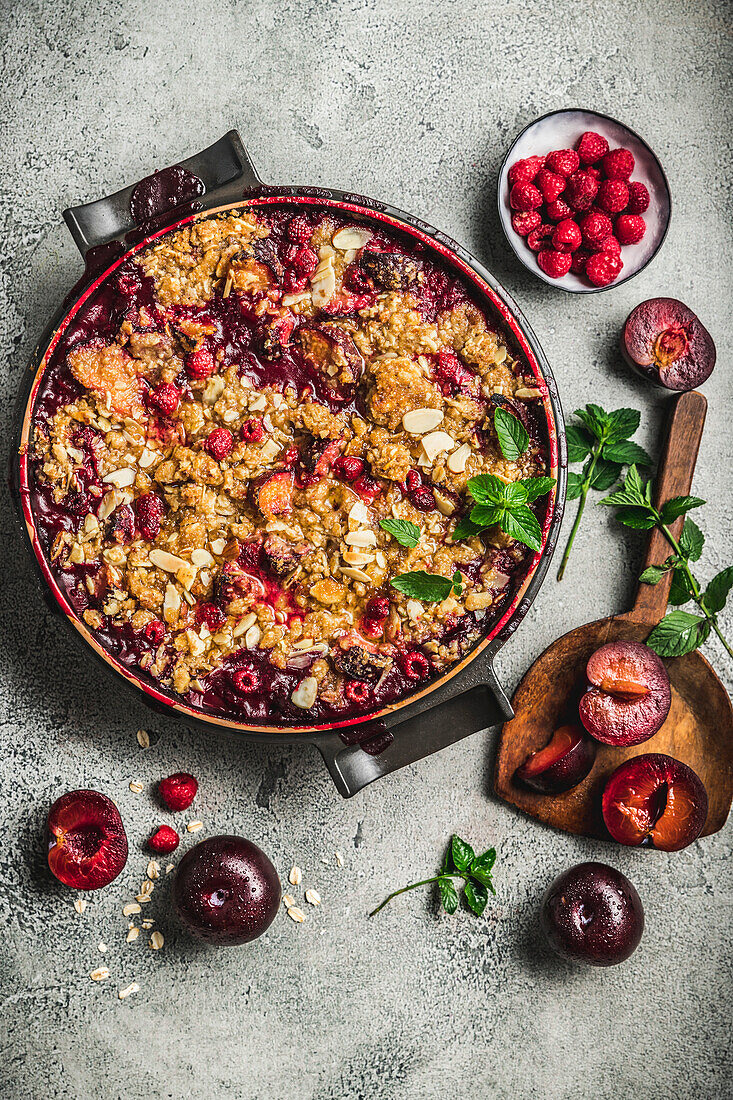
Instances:
[[[177,167],[186,168],[204,183],[201,201],[207,207],[212,205],[212,199],[221,204],[236,202],[248,189],[262,186],[236,130],[230,130],[200,153],[179,161]],[[136,183],[131,184],[107,198],[64,210],[66,224],[83,256],[90,249],[121,239],[136,228],[130,212],[130,198],[136,186]]]

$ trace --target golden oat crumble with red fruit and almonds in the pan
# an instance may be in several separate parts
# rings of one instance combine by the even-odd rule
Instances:
[[[529,436],[516,461],[500,405]],[[532,552],[451,536],[470,477],[547,472],[543,425],[528,365],[420,245],[252,207],[157,238],[74,318],[31,501],[56,582],[127,668],[205,713],[314,725],[401,698],[496,622]],[[413,571],[461,585],[422,602],[391,585]]]

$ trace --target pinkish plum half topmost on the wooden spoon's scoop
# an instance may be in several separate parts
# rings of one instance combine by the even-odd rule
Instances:
[[[641,745],[664,725],[671,705],[667,670],[641,641],[610,641],[586,667],[588,691],[578,713],[604,745]]]

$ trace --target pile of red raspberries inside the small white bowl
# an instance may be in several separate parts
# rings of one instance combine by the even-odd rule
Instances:
[[[615,282],[624,266],[622,246],[637,244],[646,232],[642,215],[649,193],[631,179],[634,166],[630,150],[611,150],[590,130],[575,148],[512,165],[512,228],[549,278],[572,272],[597,287]]]

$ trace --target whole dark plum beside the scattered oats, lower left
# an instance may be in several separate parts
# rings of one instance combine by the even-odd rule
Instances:
[[[249,944],[275,919],[277,871],[241,836],[212,836],[186,853],[173,882],[173,904],[185,927],[209,944]]]

